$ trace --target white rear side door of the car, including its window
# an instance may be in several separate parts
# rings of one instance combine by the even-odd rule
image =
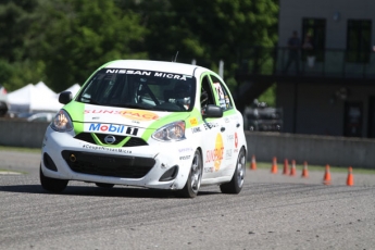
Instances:
[[[224,82],[214,74],[211,74],[210,78],[215,91],[215,101],[223,110],[223,117],[217,121],[220,123],[220,133],[223,140],[223,159],[220,168],[215,172],[215,177],[232,176],[239,151],[237,112],[233,105],[230,92]]]

